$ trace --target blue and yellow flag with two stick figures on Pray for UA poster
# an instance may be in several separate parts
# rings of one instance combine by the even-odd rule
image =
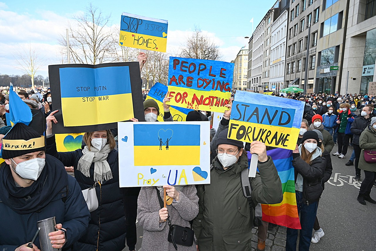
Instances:
[[[134,124],[134,165],[200,165],[200,125]]]

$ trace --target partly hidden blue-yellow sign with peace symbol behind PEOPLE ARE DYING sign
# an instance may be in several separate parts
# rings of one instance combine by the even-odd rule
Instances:
[[[167,92],[167,86],[161,83],[155,83],[155,85],[150,88],[149,94],[146,96],[146,99],[154,99],[157,102],[159,107],[158,121],[161,122],[163,122],[164,116],[163,99]],[[174,121],[185,121],[185,118],[190,111],[193,110],[177,106],[170,106],[170,113]]]

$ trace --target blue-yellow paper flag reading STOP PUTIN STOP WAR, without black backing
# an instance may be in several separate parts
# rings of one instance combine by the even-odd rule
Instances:
[[[64,126],[107,124],[134,117],[128,66],[67,67],[59,73]]]

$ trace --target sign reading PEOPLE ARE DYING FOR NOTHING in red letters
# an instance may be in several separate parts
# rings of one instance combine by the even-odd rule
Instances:
[[[194,110],[224,112],[230,102],[234,64],[170,57],[169,102]]]

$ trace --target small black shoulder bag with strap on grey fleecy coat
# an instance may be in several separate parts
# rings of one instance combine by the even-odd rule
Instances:
[[[157,196],[159,200],[159,205],[163,208],[163,201],[161,196],[159,195],[159,190],[157,190]],[[170,230],[168,231],[168,242],[171,242],[174,245],[174,248],[177,250],[177,245],[183,246],[192,246],[194,241],[194,231],[188,227],[182,227],[179,225],[172,225],[170,221],[170,216],[167,217],[168,226]]]

